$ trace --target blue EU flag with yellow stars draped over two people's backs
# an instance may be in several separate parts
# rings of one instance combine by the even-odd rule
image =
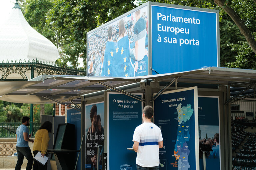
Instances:
[[[128,36],[121,38],[118,42],[106,43],[102,76],[134,77]]]

